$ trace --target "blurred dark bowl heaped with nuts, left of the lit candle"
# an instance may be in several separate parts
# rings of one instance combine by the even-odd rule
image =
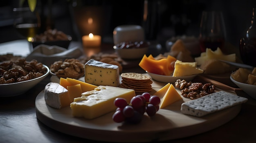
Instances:
[[[72,37],[62,31],[58,31],[57,29],[48,29],[44,33],[37,34],[31,43],[34,48],[40,44],[68,48],[71,40]]]

